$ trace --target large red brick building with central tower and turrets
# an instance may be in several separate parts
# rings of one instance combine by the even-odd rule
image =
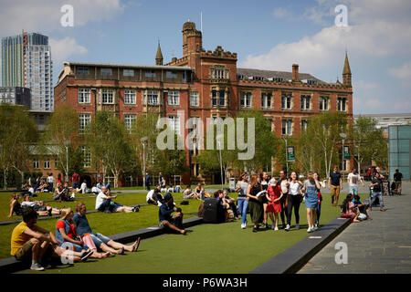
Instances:
[[[185,119],[235,117],[239,110],[262,110],[278,136],[298,135],[312,115],[341,110],[352,118],[353,88],[345,56],[342,83],[311,74],[237,68],[237,53],[203,48],[202,33],[192,22],[183,26],[183,57],[163,65],[160,45],[153,66],[67,62],[55,88],[55,107],[71,104],[79,112],[79,130],[98,110],[110,111],[130,125],[146,111],[168,117],[177,127]],[[187,134],[188,130],[184,130]],[[183,134],[183,133],[181,133]],[[184,135],[185,137],[185,135]],[[191,177],[199,167],[187,151]],[[349,163],[349,162],[348,162]],[[347,165],[349,167],[349,165]],[[188,177],[187,177],[188,179]],[[184,180],[186,181],[186,180]]]

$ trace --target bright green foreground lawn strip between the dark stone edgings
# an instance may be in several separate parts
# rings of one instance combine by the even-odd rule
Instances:
[[[195,207],[194,202],[190,203],[189,208],[191,207]],[[184,211],[185,208],[184,206]],[[147,214],[149,212],[147,211]],[[101,218],[110,217],[114,220],[113,218],[121,215],[138,217],[143,214],[142,212],[141,214],[98,215]],[[326,224],[339,214],[339,208],[331,206],[330,194],[323,195],[321,224]],[[96,223],[94,219],[98,218],[91,217],[91,214],[89,218],[92,218],[90,223],[96,231],[107,228],[104,223]],[[147,220],[145,223],[155,224],[154,221]],[[131,222],[123,224],[131,224]],[[74,266],[61,265],[39,273],[248,273],[309,235],[306,231],[307,216],[303,203],[300,205],[301,229],[298,231],[268,229],[255,234],[251,232],[251,224],[248,224],[246,230],[240,229],[240,224],[240,221],[227,224],[201,224],[189,228],[192,232],[186,236],[162,235],[143,240],[138,253],[117,255],[102,260],[91,259],[87,263],[78,263]],[[293,225],[294,216],[291,220],[291,227]],[[121,232],[119,228],[122,227],[122,225],[113,227],[115,230],[112,230],[112,233]],[[111,233],[107,232],[107,234]],[[28,272],[32,273],[32,271]]]

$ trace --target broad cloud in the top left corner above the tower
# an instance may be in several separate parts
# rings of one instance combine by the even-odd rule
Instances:
[[[90,21],[110,20],[124,11],[120,0],[2,0],[0,9],[1,36],[41,31],[47,34],[62,29],[60,11],[62,5],[72,5],[74,28]]]

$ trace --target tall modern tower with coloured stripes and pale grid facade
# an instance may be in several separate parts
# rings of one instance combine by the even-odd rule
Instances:
[[[48,36],[23,32],[2,38],[2,84],[31,89],[31,110],[54,110]]]

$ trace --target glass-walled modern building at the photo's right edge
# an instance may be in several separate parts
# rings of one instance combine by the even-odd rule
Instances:
[[[404,180],[409,180],[411,165],[411,125],[389,126],[389,168],[390,179],[394,179],[395,170],[403,173]]]

